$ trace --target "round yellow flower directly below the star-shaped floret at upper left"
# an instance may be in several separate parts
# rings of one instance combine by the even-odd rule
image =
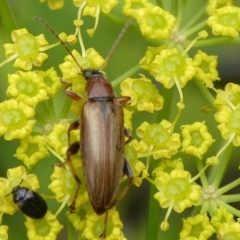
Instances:
[[[8,83],[7,95],[27,105],[36,106],[48,98],[43,78],[35,71],[17,71],[15,74],[9,74]]]

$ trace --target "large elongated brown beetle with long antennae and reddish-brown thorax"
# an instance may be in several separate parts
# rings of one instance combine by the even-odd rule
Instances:
[[[41,18],[35,19],[43,23],[63,44],[68,53],[78,65],[83,77],[87,81],[85,92],[87,101],[81,111],[81,119],[74,121],[68,128],[68,149],[66,163],[78,183],[71,211],[75,210],[75,200],[81,180],[71,162],[71,156],[81,152],[83,175],[87,192],[96,214],[105,213],[104,228],[101,238],[104,239],[107,228],[108,210],[120,201],[133,180],[133,173],[124,158],[124,146],[131,141],[130,132],[124,128],[123,105],[130,101],[130,97],[116,97],[110,81],[100,69],[83,69],[77,62],[66,44],[58,37],[54,30]],[[128,23],[129,25],[130,23]],[[125,31],[126,29],[123,29]],[[122,32],[120,37],[122,37]],[[119,41],[119,38],[116,42]],[[115,43],[116,43],[115,42]],[[113,47],[115,47],[114,44]],[[112,49],[110,50],[110,54]],[[107,57],[107,59],[109,56]],[[72,84],[61,79],[65,84],[64,93],[75,101],[82,101],[84,97],[70,90]],[[71,143],[71,131],[80,129],[80,142]],[[127,140],[125,141],[125,137]],[[119,195],[117,191],[123,175],[129,179]]]

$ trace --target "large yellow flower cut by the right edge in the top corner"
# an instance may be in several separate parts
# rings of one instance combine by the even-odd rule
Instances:
[[[238,37],[240,30],[240,8],[225,6],[215,9],[208,18],[208,25],[214,35]]]

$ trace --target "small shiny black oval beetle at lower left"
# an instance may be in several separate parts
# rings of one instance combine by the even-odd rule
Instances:
[[[38,193],[26,187],[16,186],[9,194],[13,195],[13,202],[26,216],[41,219],[46,215],[47,203]]]

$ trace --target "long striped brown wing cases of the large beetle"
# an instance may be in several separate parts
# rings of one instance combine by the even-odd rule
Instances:
[[[123,108],[113,97],[90,98],[81,116],[83,173],[93,208],[102,214],[112,207],[123,175]]]

